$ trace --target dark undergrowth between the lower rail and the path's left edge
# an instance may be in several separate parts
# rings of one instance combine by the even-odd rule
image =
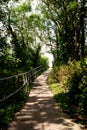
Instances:
[[[27,100],[32,86],[33,85],[31,83],[27,86],[27,90],[21,90],[11,99],[8,99],[0,104],[0,129],[8,127],[8,124],[13,120],[15,113],[21,109]]]

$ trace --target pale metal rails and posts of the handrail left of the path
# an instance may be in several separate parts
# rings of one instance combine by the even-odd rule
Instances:
[[[36,67],[36,68],[34,68],[34,69],[30,70],[30,71],[27,71],[27,72],[25,72],[25,73],[21,73],[21,74],[18,74],[18,75],[13,75],[13,76],[9,76],[9,77],[0,79],[0,81],[5,81],[5,80],[8,80],[8,79],[12,79],[12,78],[14,78],[14,77],[16,77],[16,76],[17,76],[17,77],[19,77],[19,76],[25,76],[25,77],[23,77],[23,81],[24,81],[23,85],[22,85],[20,88],[18,88],[17,90],[15,90],[13,93],[10,93],[10,94],[7,95],[7,96],[3,96],[3,98],[0,99],[0,103],[3,102],[3,101],[5,101],[5,100],[7,100],[7,99],[10,98],[10,97],[12,97],[12,96],[15,95],[16,93],[18,93],[30,80],[32,80],[32,78],[35,77],[35,74],[37,74],[37,73],[38,73],[39,71],[41,71],[42,69],[43,69],[43,65],[38,66],[38,67]],[[37,72],[35,72],[36,70],[37,70]],[[33,72],[35,72],[35,73],[33,73]],[[28,75],[29,78],[28,78],[27,74],[29,74],[29,75]],[[33,76],[34,76],[34,77],[33,77]]]

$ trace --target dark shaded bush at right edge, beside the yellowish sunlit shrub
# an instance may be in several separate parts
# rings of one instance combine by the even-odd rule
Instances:
[[[69,78],[67,82],[67,87],[69,87],[69,97],[72,102],[71,107],[73,109],[73,104],[76,107],[76,112],[82,114],[87,118],[86,100],[87,100],[87,58],[82,60],[80,68],[75,70],[72,77]],[[83,62],[84,61],[84,62]]]

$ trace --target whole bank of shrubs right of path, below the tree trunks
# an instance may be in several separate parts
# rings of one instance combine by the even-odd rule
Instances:
[[[48,84],[64,111],[79,121],[87,119],[87,58],[54,67]]]

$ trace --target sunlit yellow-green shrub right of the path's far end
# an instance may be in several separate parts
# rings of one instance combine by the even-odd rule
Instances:
[[[60,83],[62,87],[65,87],[69,77],[73,75],[74,71],[77,70],[79,66],[80,62],[76,62],[75,60],[73,62],[68,61],[67,64],[59,64],[58,67],[54,66],[50,75],[50,77],[52,76],[51,80],[49,78],[50,81],[48,80],[48,82]],[[67,87],[65,88],[67,89]]]

